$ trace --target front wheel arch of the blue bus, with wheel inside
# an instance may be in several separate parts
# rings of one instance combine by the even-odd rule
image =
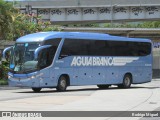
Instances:
[[[67,74],[62,74],[60,75],[59,79],[58,79],[58,83],[57,83],[57,91],[59,92],[63,92],[66,90],[67,86],[70,85],[70,78],[69,75]]]

